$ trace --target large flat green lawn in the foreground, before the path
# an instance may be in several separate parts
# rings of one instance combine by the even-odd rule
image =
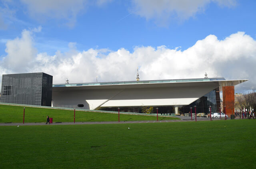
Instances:
[[[252,169],[255,126],[256,120],[0,126],[0,168]]]

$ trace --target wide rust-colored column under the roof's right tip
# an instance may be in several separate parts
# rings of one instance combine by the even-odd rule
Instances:
[[[234,86],[223,86],[222,94],[223,94],[223,106],[226,106],[226,113],[228,117],[230,117],[231,114],[234,114],[234,108],[235,108]]]

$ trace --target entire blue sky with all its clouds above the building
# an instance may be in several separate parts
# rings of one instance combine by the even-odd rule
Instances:
[[[0,0],[0,76],[224,77],[256,89],[255,0]],[[0,78],[0,84],[1,82]]]

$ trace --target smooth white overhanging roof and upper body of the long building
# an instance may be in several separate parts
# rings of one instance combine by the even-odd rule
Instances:
[[[53,85],[56,106],[85,104],[95,109],[115,106],[188,105],[220,86],[235,86],[247,80],[224,78],[122,81]]]

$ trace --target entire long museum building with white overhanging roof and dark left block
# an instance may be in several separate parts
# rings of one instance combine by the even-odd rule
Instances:
[[[29,76],[29,77],[28,77]],[[34,79],[34,78],[38,79]],[[234,113],[234,86],[247,80],[220,78],[68,83],[52,85],[45,73],[3,75],[0,102],[142,113],[220,112],[220,91],[227,114]],[[50,85],[51,84],[51,85]],[[50,103],[50,104],[49,104]]]

